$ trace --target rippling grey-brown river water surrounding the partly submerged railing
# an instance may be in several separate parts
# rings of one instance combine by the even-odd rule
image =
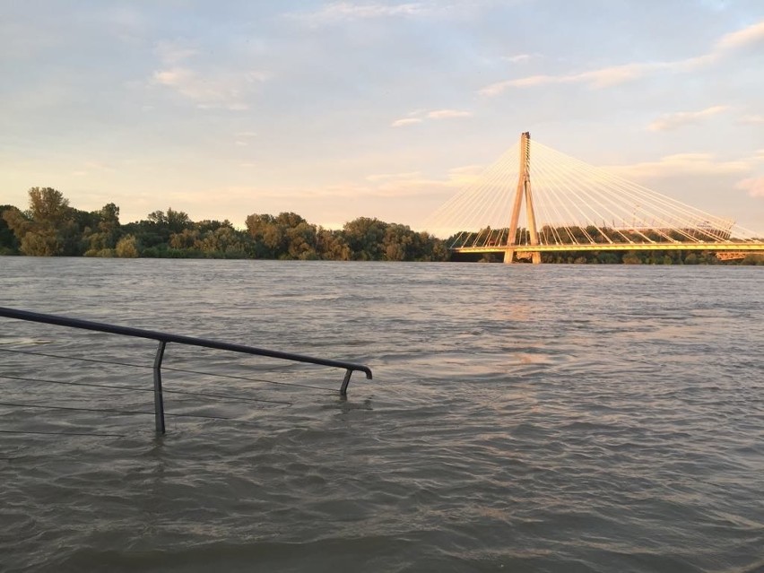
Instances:
[[[0,257],[0,306],[374,372],[169,344],[218,397],[157,438],[102,412],[155,343],[0,318],[0,570],[764,570],[761,268]]]

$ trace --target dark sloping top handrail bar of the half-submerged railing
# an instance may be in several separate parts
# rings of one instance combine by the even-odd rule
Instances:
[[[219,341],[207,340],[204,338],[195,338],[193,336],[184,336],[181,334],[162,333],[132,326],[116,326],[106,323],[93,322],[91,320],[82,320],[81,318],[61,317],[57,315],[48,315],[29,310],[19,310],[16,308],[0,307],[0,317],[17,318],[19,320],[28,320],[30,322],[39,322],[47,325],[68,326],[70,328],[81,328],[83,330],[92,330],[96,332],[120,334],[122,336],[133,336],[135,338],[147,338],[164,343],[187,344],[189,346],[200,346],[203,348],[213,348],[215,350],[240,352],[243,354],[252,354],[255,356],[266,356],[268,358],[277,358],[281,360],[292,360],[295,362],[306,362],[308,364],[317,364],[319,366],[328,366],[332,368],[341,368],[347,370],[358,370],[366,374],[366,378],[371,379],[371,369],[362,364],[345,362],[342,360],[327,360],[306,356],[304,354],[294,354],[291,352],[279,352],[256,348],[254,346],[245,346],[244,344],[221,343]]]

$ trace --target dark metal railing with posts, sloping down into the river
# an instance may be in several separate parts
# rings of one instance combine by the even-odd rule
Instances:
[[[353,362],[347,362],[343,360],[328,360],[324,358],[316,358],[313,356],[306,356],[304,354],[295,354],[292,352],[280,352],[273,350],[266,350],[264,348],[256,348],[254,346],[247,346],[244,344],[232,344],[222,343],[219,341],[208,340],[205,338],[195,338],[193,336],[184,336],[180,334],[162,333],[154,330],[145,330],[143,328],[135,328],[132,326],[117,326],[109,325],[106,323],[93,322],[91,320],[82,320],[80,318],[62,317],[58,315],[48,315],[39,312],[30,312],[29,310],[19,310],[16,308],[4,308],[0,307],[0,317],[16,318],[18,320],[26,320],[29,322],[37,322],[48,325],[66,326],[69,328],[80,328],[83,330],[90,330],[95,332],[119,334],[122,336],[132,336],[135,338],[143,338],[149,340],[158,341],[156,354],[153,361],[153,395],[154,395],[154,422],[157,433],[165,433],[165,421],[164,421],[164,400],[162,397],[161,386],[161,365],[164,359],[164,352],[168,343],[178,343],[187,346],[200,346],[203,348],[212,348],[215,350],[239,352],[243,354],[252,354],[256,356],[265,356],[267,358],[275,358],[279,360],[291,360],[293,362],[306,362],[308,364],[316,364],[318,366],[326,366],[330,368],[343,369],[344,377],[340,386],[340,395],[346,396],[348,385],[350,384],[352,373],[355,371],[363,372],[366,374],[367,379],[371,379],[371,369],[362,364],[355,364]]]

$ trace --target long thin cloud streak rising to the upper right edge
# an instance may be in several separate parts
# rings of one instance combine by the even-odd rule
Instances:
[[[718,39],[711,51],[700,56],[689,57],[668,62],[631,62],[629,64],[612,65],[578,74],[537,74],[491,83],[478,93],[482,96],[494,97],[508,88],[528,88],[559,83],[584,83],[590,88],[610,87],[624,82],[630,82],[658,72],[688,72],[715,63],[734,50],[751,46],[764,41],[764,21],[753,24],[742,30],[726,34]]]

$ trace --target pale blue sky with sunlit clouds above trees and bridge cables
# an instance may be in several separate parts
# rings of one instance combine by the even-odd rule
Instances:
[[[764,230],[761,0],[0,0],[0,204],[421,230],[521,132]]]

